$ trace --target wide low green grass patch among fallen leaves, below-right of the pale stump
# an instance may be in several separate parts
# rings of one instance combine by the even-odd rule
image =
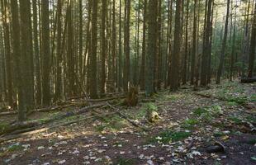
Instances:
[[[157,136],[150,138],[148,140],[148,143],[149,144],[155,144],[155,143],[170,144],[175,141],[186,139],[191,134],[192,133],[190,133],[190,132],[184,132],[184,131],[173,132],[171,130],[164,130]]]

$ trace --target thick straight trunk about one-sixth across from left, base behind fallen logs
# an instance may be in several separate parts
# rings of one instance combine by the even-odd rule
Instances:
[[[50,105],[50,20],[49,0],[41,0],[42,28],[42,101],[44,106]]]

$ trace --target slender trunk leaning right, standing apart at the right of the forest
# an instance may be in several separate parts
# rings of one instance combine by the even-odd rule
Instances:
[[[224,59],[225,59],[225,45],[226,45],[226,39],[227,39],[227,35],[228,35],[228,28],[229,28],[229,15],[230,15],[230,0],[227,1],[224,38],[223,38],[223,42],[222,42],[222,47],[221,47],[221,52],[220,52],[220,64],[219,64],[217,78],[216,78],[217,84],[220,83],[220,77],[221,77],[222,68],[223,68]]]

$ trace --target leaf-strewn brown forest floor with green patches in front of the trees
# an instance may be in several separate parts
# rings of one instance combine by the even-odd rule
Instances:
[[[115,113],[95,115],[112,111],[97,108],[88,120],[2,143],[0,164],[256,164],[255,83],[225,82],[197,92],[186,86],[135,107],[115,107],[146,130]],[[157,122],[146,120],[148,109],[159,113]],[[73,110],[33,117],[66,111]],[[58,123],[87,115],[92,111]]]

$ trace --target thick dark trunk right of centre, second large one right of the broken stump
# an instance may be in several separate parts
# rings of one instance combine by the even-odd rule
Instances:
[[[178,89],[178,61],[181,54],[181,12],[183,10],[182,0],[176,1],[175,11],[175,28],[174,28],[174,45],[173,55],[171,59],[171,78],[170,78],[170,91]]]

